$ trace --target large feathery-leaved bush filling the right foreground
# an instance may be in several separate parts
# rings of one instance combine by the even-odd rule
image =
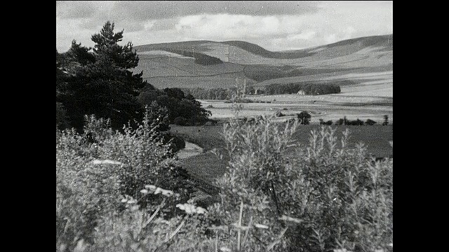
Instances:
[[[274,118],[225,125],[229,171],[215,183],[221,203],[208,208],[215,235],[244,251],[386,251],[391,160],[373,162],[365,146],[348,147],[349,132],[337,139],[330,127],[311,132],[309,146],[288,158],[296,128]]]

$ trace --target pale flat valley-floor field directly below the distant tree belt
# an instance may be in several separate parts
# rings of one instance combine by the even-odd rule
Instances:
[[[335,121],[344,118],[344,116],[349,120],[359,118],[365,121],[371,119],[377,123],[382,123],[384,115],[387,115],[389,120],[393,121],[393,99],[389,97],[277,94],[249,96],[248,98],[256,102],[243,104],[244,109],[239,113],[241,117],[272,115],[276,111],[281,111],[286,117],[279,118],[279,120],[285,120],[302,111],[308,111],[312,116],[311,123],[315,124],[319,123],[320,119]],[[270,103],[257,103],[257,101]],[[201,100],[200,102],[203,107],[212,113],[211,118],[220,119],[234,116],[232,104],[228,102],[219,100]]]

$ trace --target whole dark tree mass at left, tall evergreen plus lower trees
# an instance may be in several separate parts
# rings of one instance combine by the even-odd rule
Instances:
[[[56,50],[56,123],[58,128],[74,127],[83,131],[85,115],[109,118],[112,129],[123,125],[137,127],[145,115],[145,106],[154,120],[163,120],[159,129],[166,131],[175,118],[185,118],[187,125],[205,123],[210,112],[192,95],[179,89],[157,90],[133,73],[139,57],[133,44],[119,45],[123,31],[114,32],[114,23],[106,22],[99,34],[91,37],[94,48],[72,41],[67,52]],[[159,108],[160,107],[160,108]],[[159,118],[166,108],[166,116]],[[159,111],[156,113],[155,111]]]

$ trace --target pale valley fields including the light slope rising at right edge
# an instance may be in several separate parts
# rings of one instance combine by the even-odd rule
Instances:
[[[281,111],[286,116],[295,116],[301,111],[311,113],[311,123],[323,120],[339,120],[347,116],[349,120],[375,120],[382,122],[384,115],[393,121],[393,73],[351,73],[339,78],[356,80],[357,84],[343,85],[339,94],[323,95],[248,95],[254,103],[243,104],[241,116],[270,115]],[[329,80],[337,77],[329,78]],[[201,100],[203,107],[212,113],[212,118],[233,116],[232,104],[219,100]],[[264,102],[264,103],[257,103]],[[267,103],[269,102],[269,103]],[[210,107],[211,106],[211,107]]]

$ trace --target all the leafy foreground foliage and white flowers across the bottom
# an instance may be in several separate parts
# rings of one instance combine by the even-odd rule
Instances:
[[[58,132],[58,251],[392,250],[392,159],[374,162],[348,133],[321,127],[298,146],[298,121],[231,120],[229,170],[205,211],[151,127],[104,124],[88,123],[94,144]]]

